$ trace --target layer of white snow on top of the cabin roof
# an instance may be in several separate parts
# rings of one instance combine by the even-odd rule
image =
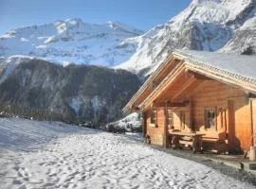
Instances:
[[[256,83],[256,56],[195,50],[175,50],[174,53],[184,56],[185,60],[193,64],[208,67],[230,77]]]

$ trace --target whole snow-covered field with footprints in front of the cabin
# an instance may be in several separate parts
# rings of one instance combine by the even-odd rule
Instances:
[[[133,135],[0,119],[0,188],[254,188]]]

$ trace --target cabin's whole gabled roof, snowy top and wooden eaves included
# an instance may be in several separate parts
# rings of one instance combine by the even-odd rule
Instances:
[[[256,94],[256,56],[176,50],[146,80],[122,112],[133,112],[153,102],[175,77],[189,70]]]

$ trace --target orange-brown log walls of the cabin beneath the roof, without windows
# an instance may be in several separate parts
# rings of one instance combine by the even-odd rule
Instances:
[[[246,93],[240,89],[215,80],[208,80],[199,86],[200,90],[190,96],[191,104],[186,108],[172,108],[174,112],[174,129],[183,131],[195,130],[206,133],[206,137],[229,139],[229,149],[247,150],[250,143],[252,120],[256,129],[256,101],[251,102]],[[206,129],[205,109],[214,108],[217,113],[216,127]],[[251,113],[251,109],[254,110]],[[180,120],[181,112],[185,121]],[[163,145],[164,108],[157,109],[156,126],[151,124],[151,111],[145,113],[147,135],[154,145]],[[169,129],[170,130],[170,129]],[[228,134],[227,134],[228,133]],[[256,145],[256,141],[254,140]]]

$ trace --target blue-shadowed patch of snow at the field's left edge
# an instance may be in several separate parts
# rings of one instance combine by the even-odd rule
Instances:
[[[66,125],[62,122],[0,118],[0,151],[31,151],[56,138],[81,132],[81,130],[77,126]]]

